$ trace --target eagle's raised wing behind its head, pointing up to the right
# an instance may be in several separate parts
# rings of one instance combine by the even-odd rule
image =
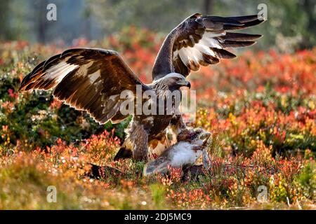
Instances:
[[[258,15],[218,17],[191,15],[166,37],[159,50],[152,79],[157,80],[168,73],[188,76],[199,67],[217,64],[220,59],[236,57],[225,48],[253,45],[261,35],[233,33],[230,30],[245,29],[264,22]]]

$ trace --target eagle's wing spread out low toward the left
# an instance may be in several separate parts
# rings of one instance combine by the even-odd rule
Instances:
[[[98,123],[119,122],[123,90],[147,88],[112,50],[77,48],[41,62],[22,80],[20,90],[50,90],[57,99],[87,111]]]

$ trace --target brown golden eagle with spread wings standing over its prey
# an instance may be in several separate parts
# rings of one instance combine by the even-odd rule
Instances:
[[[53,89],[55,98],[74,109],[87,111],[98,123],[108,120],[119,123],[129,116],[120,110],[124,103],[120,97],[122,91],[136,94],[140,88],[141,92],[151,91],[157,94],[157,99],[166,100],[170,97],[166,92],[179,90],[181,86],[190,87],[185,79],[190,71],[217,64],[220,59],[234,58],[236,56],[225,48],[246,47],[261,37],[230,30],[245,29],[263,21],[258,15],[227,18],[191,15],[164,40],[154,62],[151,84],[142,83],[117,52],[79,48],[66,50],[38,64],[22,80],[20,90]],[[150,106],[157,104],[151,102]],[[132,155],[135,160],[147,160],[148,144],[162,139],[166,127],[185,128],[175,110],[163,115],[134,114],[115,159]]]

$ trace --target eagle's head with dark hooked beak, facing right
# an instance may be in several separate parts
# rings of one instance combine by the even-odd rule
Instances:
[[[179,90],[180,87],[191,87],[191,83],[186,80],[185,76],[179,73],[169,73],[168,75],[159,78],[154,82],[159,87],[159,90]]]

